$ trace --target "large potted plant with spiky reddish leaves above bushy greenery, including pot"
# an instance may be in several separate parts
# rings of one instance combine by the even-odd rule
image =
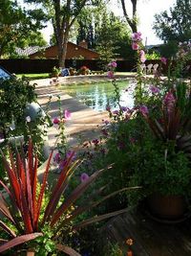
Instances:
[[[191,192],[191,93],[180,82],[154,103],[139,106],[145,132],[134,146],[137,166],[130,183],[142,186],[153,214],[176,220],[185,213]]]

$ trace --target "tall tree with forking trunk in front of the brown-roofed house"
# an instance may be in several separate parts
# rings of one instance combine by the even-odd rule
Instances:
[[[53,24],[56,45],[58,47],[59,66],[65,66],[69,33],[79,13],[87,5],[98,5],[101,0],[25,0],[38,4],[41,12],[48,15]]]

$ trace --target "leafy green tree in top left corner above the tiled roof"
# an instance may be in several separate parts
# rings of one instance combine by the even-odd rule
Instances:
[[[42,36],[40,37],[37,30],[43,26],[36,21],[36,14],[35,11],[22,10],[16,1],[0,0],[0,57],[13,53],[15,47],[22,47],[26,42],[29,45],[34,38],[36,44],[42,43]]]

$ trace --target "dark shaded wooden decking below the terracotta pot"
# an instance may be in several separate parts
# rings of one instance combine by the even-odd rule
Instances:
[[[128,238],[134,240],[135,256],[191,256],[191,220],[165,224],[145,213],[133,211],[107,223],[105,234],[125,251]]]

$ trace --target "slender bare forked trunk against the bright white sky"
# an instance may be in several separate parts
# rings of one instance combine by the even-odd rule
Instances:
[[[138,20],[137,20],[137,2],[138,2],[138,0],[131,0],[132,9],[133,9],[132,17],[130,17],[127,13],[125,0],[120,0],[120,2],[121,2],[124,17],[125,17],[128,25],[130,26],[132,32],[133,33],[138,32]]]

